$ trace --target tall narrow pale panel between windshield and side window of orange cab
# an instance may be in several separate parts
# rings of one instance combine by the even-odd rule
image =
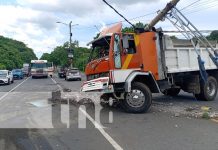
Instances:
[[[119,34],[114,35],[114,65],[116,69],[120,69],[121,66],[121,38]]]

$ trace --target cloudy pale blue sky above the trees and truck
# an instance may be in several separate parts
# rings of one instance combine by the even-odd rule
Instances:
[[[107,1],[132,23],[148,23],[168,2]],[[182,12],[198,29],[218,29],[218,0],[180,0],[177,7],[183,9]],[[57,22],[69,24],[70,21],[79,24],[72,27],[73,40],[78,40],[80,46],[87,46],[99,30],[122,21],[122,18],[102,0],[0,0],[0,35],[24,42],[39,58],[69,40],[69,27]],[[123,26],[129,25],[124,22]],[[156,27],[175,30],[167,20]]]

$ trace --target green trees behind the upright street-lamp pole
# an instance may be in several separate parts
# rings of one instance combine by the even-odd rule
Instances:
[[[50,54],[44,53],[40,59],[53,62],[55,66],[69,67],[70,62],[68,59],[68,45],[69,43],[66,42],[62,46],[57,46]],[[72,43],[72,48],[74,50],[73,67],[84,71],[85,65],[90,55],[90,50],[88,48],[79,47],[78,41],[74,41]]]

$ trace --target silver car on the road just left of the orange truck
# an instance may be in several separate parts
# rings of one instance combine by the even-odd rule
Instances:
[[[70,80],[81,81],[82,77],[81,77],[79,69],[77,69],[77,68],[68,69],[67,73],[66,73],[65,80],[67,80],[67,81],[70,81]]]

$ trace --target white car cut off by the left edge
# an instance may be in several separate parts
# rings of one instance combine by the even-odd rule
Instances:
[[[13,74],[9,70],[0,70],[0,84],[14,83]]]

